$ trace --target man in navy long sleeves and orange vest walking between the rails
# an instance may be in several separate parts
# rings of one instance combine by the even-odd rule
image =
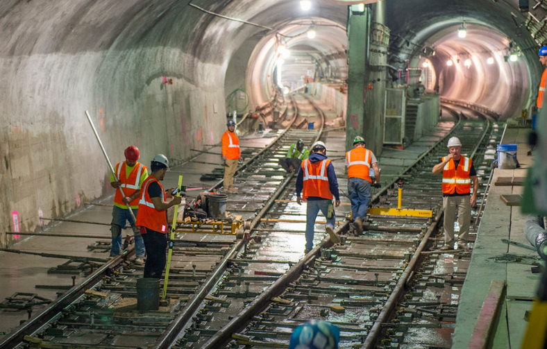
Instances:
[[[333,241],[334,244],[340,242],[334,230],[336,215],[333,207],[333,195],[336,198],[336,207],[338,207],[340,194],[335,167],[327,159],[325,144],[315,142],[312,146],[312,155],[302,162],[296,178],[296,203],[301,205],[302,201],[308,202],[305,253],[310,252],[313,248],[315,219],[317,219],[319,210],[327,219],[326,232],[330,236],[330,241]]]

